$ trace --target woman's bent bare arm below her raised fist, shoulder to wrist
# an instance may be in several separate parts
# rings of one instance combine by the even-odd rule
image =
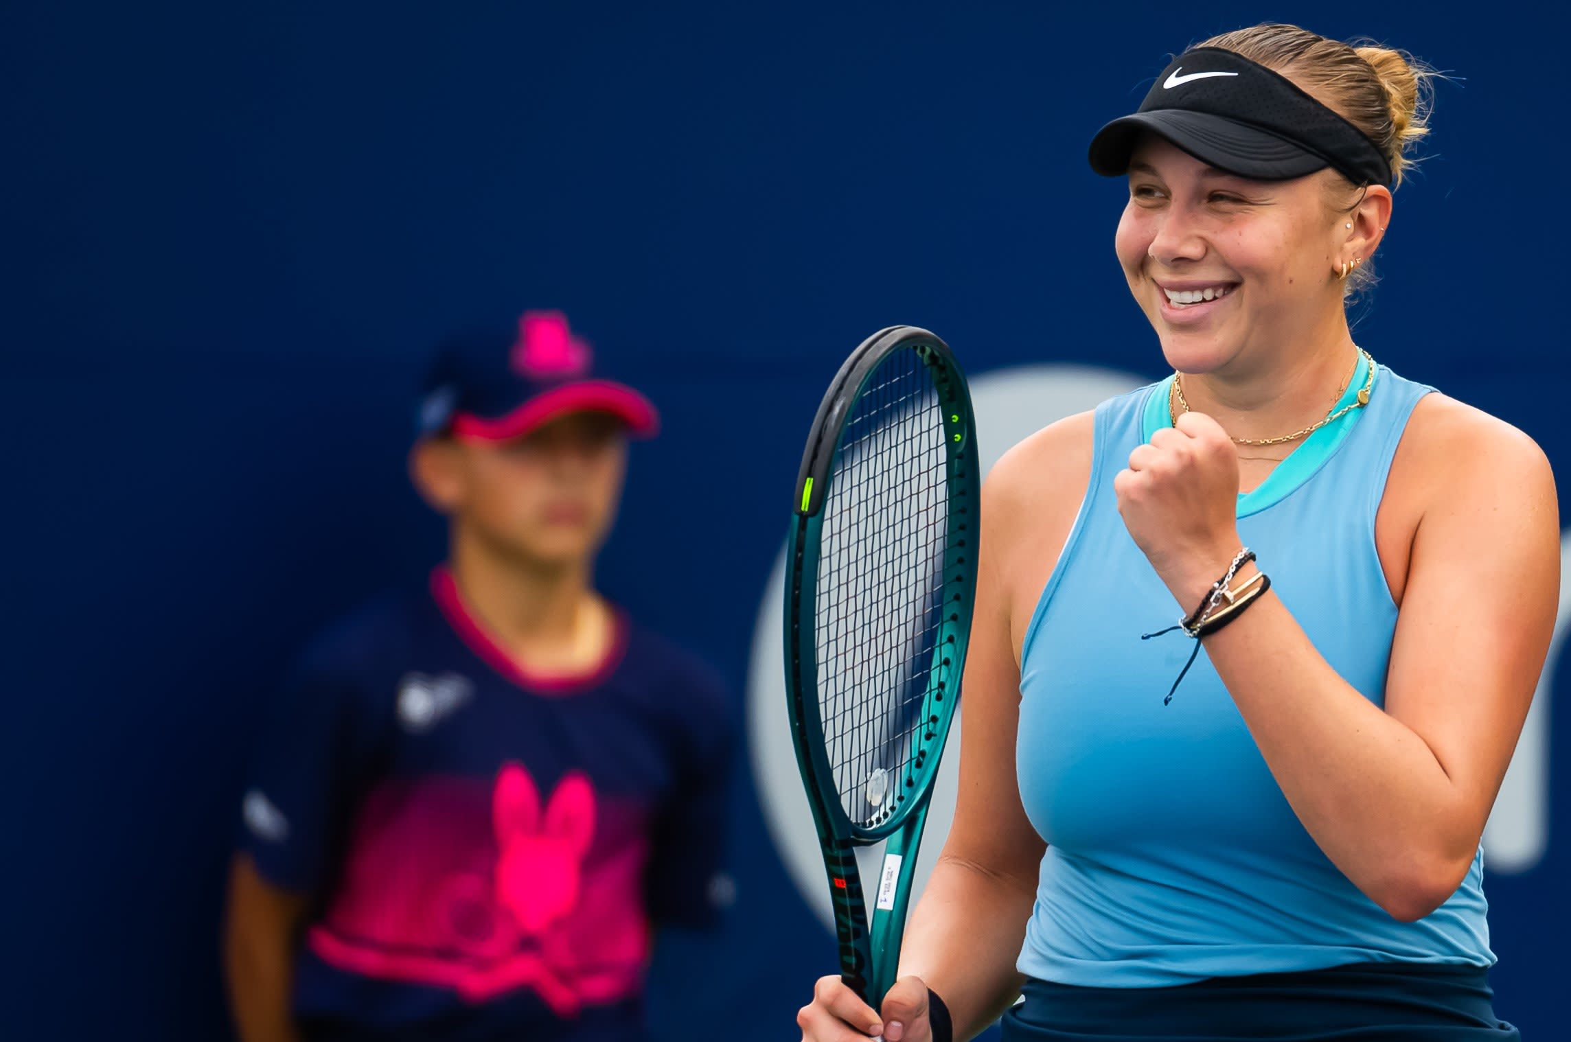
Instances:
[[[1549,648],[1560,525],[1538,446],[1458,402],[1420,402],[1397,462],[1387,503],[1409,495],[1419,508],[1384,710],[1337,676],[1276,594],[1205,648],[1304,828],[1371,901],[1412,921],[1456,891],[1478,849]],[[1180,604],[1197,604],[1236,547],[1235,531],[1153,564]]]

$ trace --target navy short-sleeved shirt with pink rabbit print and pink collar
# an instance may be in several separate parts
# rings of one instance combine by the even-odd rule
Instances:
[[[529,677],[438,569],[322,640],[244,802],[244,849],[316,897],[309,1039],[636,1039],[655,924],[724,893],[729,706],[619,616],[573,681]]]

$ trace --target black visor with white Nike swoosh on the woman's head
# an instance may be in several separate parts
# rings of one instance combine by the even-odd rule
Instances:
[[[1090,143],[1090,168],[1117,178],[1142,134],[1218,170],[1290,181],[1331,167],[1357,185],[1390,184],[1384,152],[1287,77],[1222,47],[1196,47],[1163,69],[1137,112]]]

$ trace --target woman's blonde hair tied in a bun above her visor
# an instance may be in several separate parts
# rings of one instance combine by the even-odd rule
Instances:
[[[1313,94],[1375,141],[1390,162],[1392,187],[1414,163],[1408,149],[1430,132],[1434,71],[1406,50],[1345,44],[1282,24],[1251,25],[1200,46],[1243,55]]]

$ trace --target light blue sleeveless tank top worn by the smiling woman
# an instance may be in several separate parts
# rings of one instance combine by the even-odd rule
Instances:
[[[1360,363],[1343,404],[1364,385]],[[1321,853],[1180,608],[1119,517],[1112,479],[1164,426],[1172,377],[1097,409],[1090,486],[1026,630],[1020,794],[1048,841],[1020,971],[1163,987],[1354,962],[1492,965],[1483,861],[1398,923]],[[1397,442],[1431,388],[1379,366],[1370,404],[1310,435],[1238,498],[1238,530],[1331,666],[1386,698],[1397,607],[1375,552]],[[1260,648],[1258,654],[1271,654]]]

